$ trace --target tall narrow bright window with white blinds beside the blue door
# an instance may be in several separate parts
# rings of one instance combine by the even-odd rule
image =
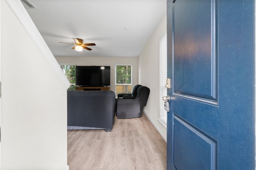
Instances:
[[[167,111],[164,110],[164,101],[162,100],[163,96],[167,96],[167,89],[165,87],[166,79],[167,79],[167,35],[165,34],[164,37],[159,41],[160,45],[160,65],[159,65],[159,72],[160,72],[160,121],[166,125],[167,124]]]

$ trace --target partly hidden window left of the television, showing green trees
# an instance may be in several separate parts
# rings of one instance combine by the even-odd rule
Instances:
[[[60,68],[70,82],[69,90],[75,90],[76,87],[76,65],[60,65]]]

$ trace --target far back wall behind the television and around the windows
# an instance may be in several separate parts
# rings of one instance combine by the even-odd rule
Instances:
[[[132,65],[132,86],[138,84],[138,57],[55,57],[59,64],[110,66],[110,87],[115,91],[115,64]]]

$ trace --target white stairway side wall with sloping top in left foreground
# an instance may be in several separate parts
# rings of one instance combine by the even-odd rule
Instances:
[[[1,170],[65,170],[66,87],[4,0],[0,21]]]

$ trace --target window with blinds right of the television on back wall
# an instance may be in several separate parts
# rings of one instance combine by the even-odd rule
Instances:
[[[120,93],[132,92],[132,66],[116,65],[115,67],[116,98]]]

